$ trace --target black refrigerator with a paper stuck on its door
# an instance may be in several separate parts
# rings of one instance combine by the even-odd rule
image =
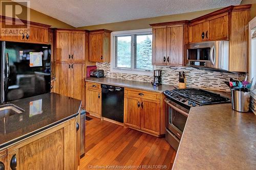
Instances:
[[[51,91],[51,45],[1,42],[1,103]]]

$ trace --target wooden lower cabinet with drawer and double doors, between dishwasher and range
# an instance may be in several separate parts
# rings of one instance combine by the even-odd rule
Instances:
[[[163,99],[164,96],[158,92],[125,88],[124,125],[155,136],[164,134]]]

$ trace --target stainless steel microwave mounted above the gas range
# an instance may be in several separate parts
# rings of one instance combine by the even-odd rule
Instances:
[[[187,45],[187,66],[228,70],[229,41],[207,41]]]

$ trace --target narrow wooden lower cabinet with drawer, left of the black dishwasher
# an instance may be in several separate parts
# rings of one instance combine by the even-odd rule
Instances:
[[[101,117],[101,86],[86,82],[86,111],[95,117]]]

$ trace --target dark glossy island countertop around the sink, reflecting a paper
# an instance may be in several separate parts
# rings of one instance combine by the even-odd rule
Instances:
[[[25,111],[9,117],[0,116],[0,149],[77,116],[81,101],[46,93],[5,104],[14,104]]]

